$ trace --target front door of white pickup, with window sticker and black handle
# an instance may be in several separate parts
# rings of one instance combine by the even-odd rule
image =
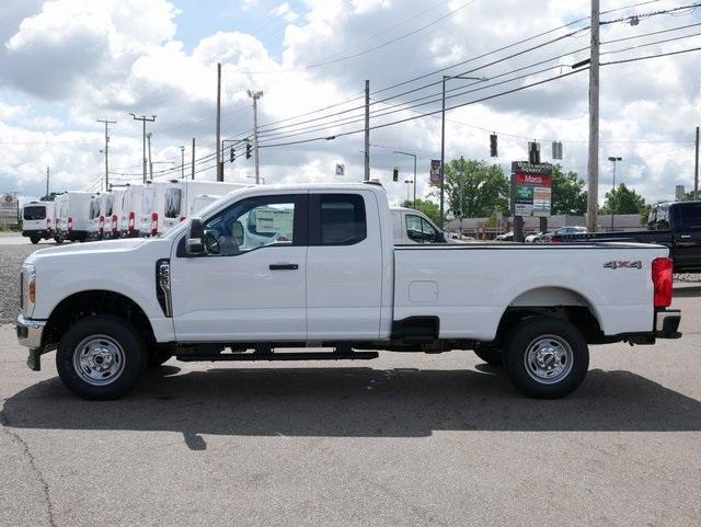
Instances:
[[[205,254],[171,259],[179,341],[307,340],[307,209],[306,194],[263,195],[203,218]]]

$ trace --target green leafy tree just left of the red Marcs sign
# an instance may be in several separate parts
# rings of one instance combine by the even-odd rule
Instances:
[[[446,165],[446,203],[453,217],[490,217],[495,211],[508,214],[509,181],[498,164],[474,159],[453,159]],[[462,187],[462,201],[460,188]]]

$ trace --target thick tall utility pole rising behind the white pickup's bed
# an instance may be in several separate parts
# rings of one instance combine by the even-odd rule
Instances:
[[[599,0],[591,0],[591,57],[589,65],[589,171],[587,228],[596,232],[599,201]]]

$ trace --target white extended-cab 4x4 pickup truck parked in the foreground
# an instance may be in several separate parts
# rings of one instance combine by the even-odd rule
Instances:
[[[680,336],[664,247],[394,245],[374,184],[242,188],[161,238],[37,251],[21,283],[30,368],[57,348],[60,378],[88,399],[125,394],[172,356],[377,350],[474,350],[526,394],[556,398],[583,381],[588,344]]]

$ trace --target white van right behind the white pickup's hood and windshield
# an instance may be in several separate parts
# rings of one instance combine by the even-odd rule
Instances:
[[[221,196],[245,186],[250,185],[192,180],[147,182],[141,199],[140,234],[158,236],[168,232],[187,217],[197,196],[207,193]]]

